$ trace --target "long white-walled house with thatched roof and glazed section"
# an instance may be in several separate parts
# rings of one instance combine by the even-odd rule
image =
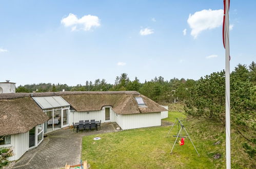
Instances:
[[[135,91],[0,94],[0,147],[19,159],[44,134],[79,120],[116,122],[123,130],[160,126],[167,110]],[[1,139],[2,138],[2,139]]]

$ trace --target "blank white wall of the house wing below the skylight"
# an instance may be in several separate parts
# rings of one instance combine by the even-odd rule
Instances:
[[[161,112],[117,115],[116,123],[123,130],[161,125]]]

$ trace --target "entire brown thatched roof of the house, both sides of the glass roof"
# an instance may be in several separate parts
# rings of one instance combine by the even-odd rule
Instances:
[[[62,96],[78,112],[97,111],[106,105],[111,105],[117,114],[166,111],[135,91],[5,93],[0,94],[0,136],[25,133],[48,120],[48,116],[31,98],[40,96]],[[139,107],[135,97],[142,97],[146,107]]]

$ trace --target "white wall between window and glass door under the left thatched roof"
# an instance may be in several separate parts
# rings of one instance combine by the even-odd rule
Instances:
[[[11,135],[11,148],[14,156],[10,158],[10,161],[21,158],[29,148],[29,132]]]

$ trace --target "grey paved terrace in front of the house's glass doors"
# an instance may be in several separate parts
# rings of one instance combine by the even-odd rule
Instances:
[[[11,168],[62,168],[65,164],[80,163],[82,137],[100,133],[117,132],[116,123],[105,124],[101,130],[91,132],[73,132],[62,129],[48,134],[35,149],[26,152],[19,160],[11,163]]]

